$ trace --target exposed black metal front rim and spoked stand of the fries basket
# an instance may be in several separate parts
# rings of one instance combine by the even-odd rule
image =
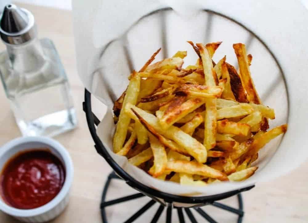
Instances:
[[[188,215],[188,218],[192,223],[196,223],[196,219],[193,216],[193,212],[191,209],[195,209],[197,213],[199,213],[202,217],[204,217],[208,222],[215,223],[215,221],[212,217],[209,216],[203,209],[200,207],[205,205],[213,205],[218,208],[224,209],[226,211],[233,212],[238,215],[237,222],[242,222],[242,218],[244,216],[243,211],[243,203],[241,198],[241,192],[247,191],[252,189],[254,186],[249,186],[246,188],[242,188],[239,190],[233,190],[230,192],[212,195],[212,196],[202,196],[202,197],[186,197],[186,196],[179,196],[179,195],[173,195],[161,192],[159,190],[155,190],[153,188],[150,188],[142,183],[140,183],[138,180],[133,178],[131,175],[129,175],[126,171],[124,171],[116,162],[115,160],[110,156],[110,154],[107,152],[106,148],[103,146],[103,143],[99,139],[98,135],[96,134],[96,127],[100,123],[99,119],[95,114],[92,112],[91,108],[91,93],[87,90],[85,90],[84,95],[84,102],[83,102],[83,111],[86,113],[87,117],[87,124],[91,133],[91,136],[93,138],[93,141],[95,143],[94,147],[96,151],[101,155],[108,164],[112,167],[114,172],[109,174],[107,178],[107,182],[105,183],[105,186],[103,188],[103,194],[102,194],[102,201],[100,204],[101,209],[101,216],[102,221],[104,223],[107,223],[107,216],[105,213],[105,207],[110,205],[119,204],[121,202],[129,201],[132,199],[140,198],[143,196],[148,196],[151,200],[145,204],[141,209],[136,211],[134,215],[132,215],[128,220],[125,221],[125,223],[133,222],[135,221],[141,214],[143,214],[146,210],[151,208],[156,202],[160,204],[160,207],[158,208],[156,214],[153,216],[151,223],[157,222],[162,211],[164,208],[167,208],[167,216],[166,216],[166,223],[171,222],[171,216],[172,216],[172,209],[177,209],[179,222],[183,223],[184,221],[184,215],[183,215],[183,209]],[[131,186],[133,189],[139,191],[140,193],[129,195],[122,198],[117,198],[115,200],[111,201],[105,201],[107,190],[109,187],[109,184],[112,179],[120,179],[124,180],[129,186]],[[238,209],[224,205],[220,202],[217,202],[219,200],[229,198],[232,196],[237,195],[238,198]],[[173,205],[173,203],[176,202],[176,206]],[[146,221],[144,221],[146,222]]]

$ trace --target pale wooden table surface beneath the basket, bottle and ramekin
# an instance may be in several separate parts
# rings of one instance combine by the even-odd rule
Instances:
[[[75,166],[75,176],[70,203],[67,209],[52,222],[102,222],[99,203],[103,184],[107,175],[111,172],[111,167],[96,153],[82,110],[84,88],[76,70],[71,12],[41,6],[19,5],[34,14],[39,28],[39,36],[48,37],[54,41],[71,84],[79,120],[79,125],[74,131],[55,137],[69,151]],[[4,45],[0,44],[0,49],[3,50],[4,48]],[[21,134],[15,123],[4,90],[0,90],[0,103],[2,108],[0,115],[0,145],[3,145]],[[99,103],[96,102],[95,104]],[[100,112],[99,107],[97,107],[95,113]],[[308,162],[305,162],[288,175],[273,182],[259,183],[252,190],[243,193],[245,210],[243,222],[308,222],[307,170]],[[136,191],[129,188],[125,183],[115,180],[111,183],[107,199],[133,193],[136,193]],[[138,198],[121,205],[108,207],[106,211],[109,222],[123,222],[148,200],[149,198]],[[228,198],[223,202],[237,207],[235,198]],[[154,208],[145,212],[136,222],[150,222],[157,208],[158,205],[156,204]],[[212,206],[206,206],[204,210],[218,222],[236,222],[236,216],[232,213]],[[194,213],[198,222],[205,222],[197,212]],[[185,219],[187,219],[186,217]],[[178,222],[176,211],[173,211],[172,219],[172,222]],[[0,222],[12,223],[17,222],[17,220],[0,211]],[[158,222],[165,222],[165,211]],[[186,222],[189,222],[189,220]]]

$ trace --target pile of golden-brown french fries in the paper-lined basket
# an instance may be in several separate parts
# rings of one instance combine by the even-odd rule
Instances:
[[[226,56],[212,60],[221,42],[188,43],[195,65],[182,68],[186,51],[151,65],[159,49],[128,77],[113,108],[113,150],[153,177],[182,185],[247,179],[260,149],[287,125],[268,131],[274,109],[260,100],[244,44],[233,44],[237,71]]]

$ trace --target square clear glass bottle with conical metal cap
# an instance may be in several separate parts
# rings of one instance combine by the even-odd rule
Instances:
[[[55,136],[77,124],[67,76],[53,42],[38,39],[33,15],[4,7],[0,75],[22,135]]]

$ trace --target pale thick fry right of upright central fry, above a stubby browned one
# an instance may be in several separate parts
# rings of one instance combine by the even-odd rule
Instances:
[[[249,104],[239,104],[231,107],[221,108],[217,110],[217,120],[249,115],[253,111],[253,108]]]

